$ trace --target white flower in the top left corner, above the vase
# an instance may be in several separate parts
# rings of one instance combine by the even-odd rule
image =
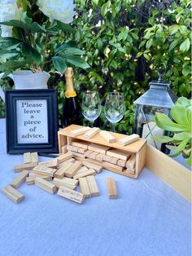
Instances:
[[[9,3],[12,2],[12,3]],[[11,0],[1,1],[0,8],[0,21],[8,20],[19,20],[20,19],[20,10],[18,9],[16,2]],[[2,38],[12,37],[12,27],[1,25],[2,29]]]

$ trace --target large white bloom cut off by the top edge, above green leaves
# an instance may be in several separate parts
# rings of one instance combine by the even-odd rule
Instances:
[[[38,0],[37,6],[50,18],[50,22],[60,20],[68,24],[75,14],[73,0]]]

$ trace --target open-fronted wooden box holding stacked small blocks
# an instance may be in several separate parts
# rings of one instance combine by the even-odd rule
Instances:
[[[70,132],[72,130],[76,130],[81,128],[82,126],[68,126],[67,128],[63,130],[59,130],[58,132],[58,139],[59,139],[59,153],[62,152],[62,147],[65,144],[71,145],[73,141],[76,142],[88,142],[88,143],[96,143],[98,145],[107,146],[110,148],[120,149],[122,152],[128,154],[128,155],[135,155],[136,156],[136,166],[135,166],[135,172],[134,174],[129,174],[124,171],[116,170],[113,167],[109,167],[106,162],[100,162],[92,159],[86,158],[86,161],[96,163],[98,165],[102,165],[103,168],[106,168],[107,170],[111,170],[113,172],[116,172],[117,174],[122,174],[124,176],[129,176],[131,178],[137,179],[138,174],[140,174],[141,170],[145,166],[146,162],[146,139],[138,139],[136,142],[130,143],[127,146],[121,146],[119,143],[107,143],[99,134],[94,135],[91,139],[85,139],[83,135],[78,135],[76,137],[72,136]],[[116,139],[124,138],[125,135],[120,135],[117,133],[111,133]],[[80,158],[76,157],[78,160]]]

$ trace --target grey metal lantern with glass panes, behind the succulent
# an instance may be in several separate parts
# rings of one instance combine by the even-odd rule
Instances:
[[[164,65],[164,64],[163,64]],[[165,65],[164,68],[166,69]],[[168,153],[164,143],[158,143],[153,136],[170,135],[170,132],[164,131],[155,125],[155,113],[164,113],[170,115],[170,109],[177,100],[177,96],[170,89],[171,82],[164,82],[164,73],[158,71],[159,79],[151,81],[150,90],[134,101],[136,104],[134,132],[145,138],[147,143],[162,152]]]

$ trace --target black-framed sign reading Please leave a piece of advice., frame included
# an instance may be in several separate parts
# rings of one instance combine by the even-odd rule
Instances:
[[[6,90],[5,98],[7,153],[58,152],[56,90]]]

